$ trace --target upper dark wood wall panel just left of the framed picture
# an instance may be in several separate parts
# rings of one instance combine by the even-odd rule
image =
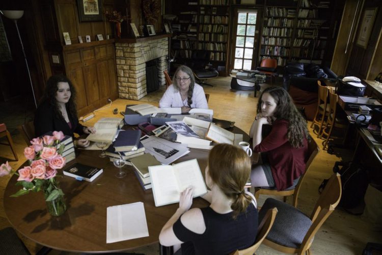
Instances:
[[[62,36],[63,32],[68,32],[70,36],[70,40],[73,42],[77,42],[78,35],[78,11],[77,6],[73,2],[57,2],[56,5],[57,10],[57,21],[59,24],[60,30],[60,38],[62,44],[64,43],[64,38]],[[77,18],[77,19],[76,19]]]

